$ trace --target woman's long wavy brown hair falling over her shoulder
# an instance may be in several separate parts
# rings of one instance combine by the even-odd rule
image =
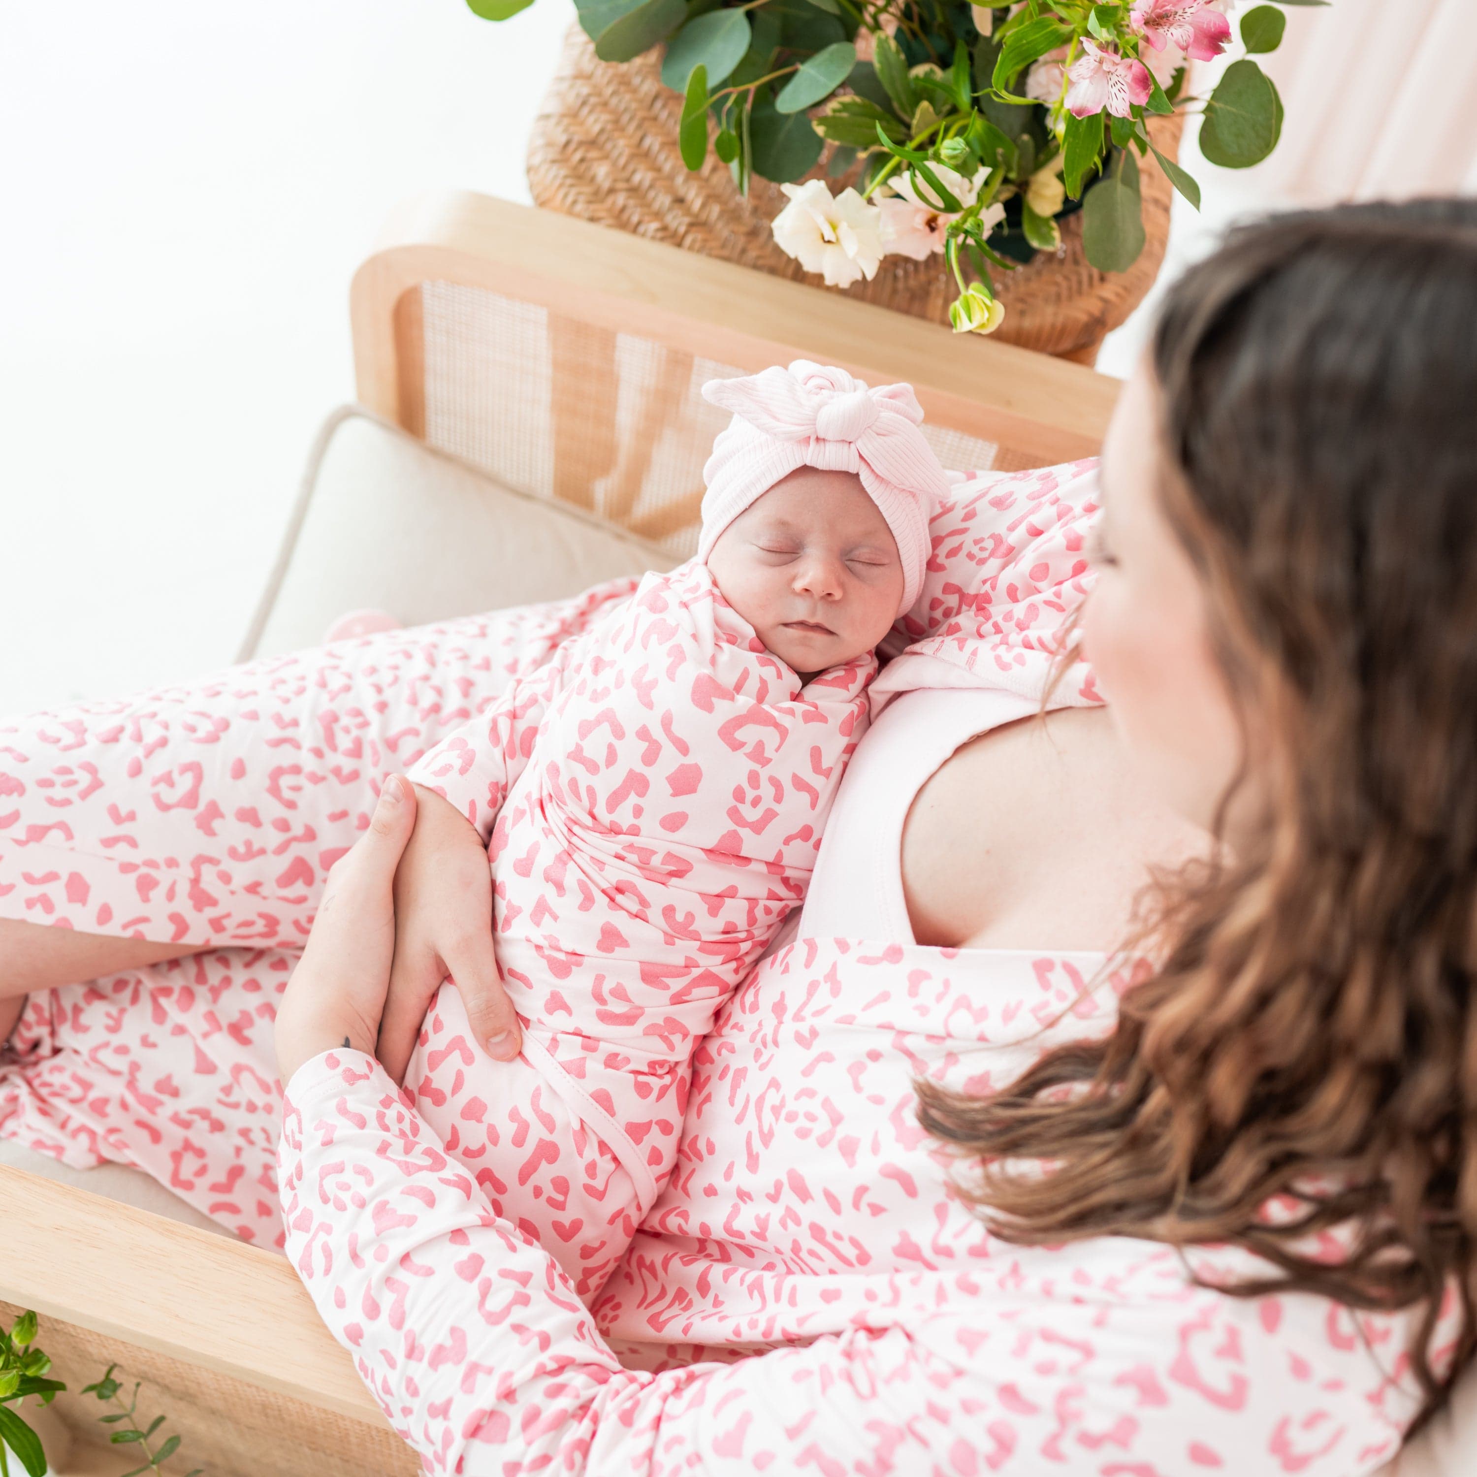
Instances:
[[[1245,1295],[1418,1310],[1428,1415],[1477,1350],[1477,202],[1236,232],[1152,366],[1267,818],[1161,880],[1111,1035],[920,1121],[1006,1239],[1230,1242]]]

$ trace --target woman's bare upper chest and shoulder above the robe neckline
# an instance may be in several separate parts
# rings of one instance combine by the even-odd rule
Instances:
[[[1007,724],[957,749],[902,832],[920,944],[1111,950],[1152,866],[1207,839],[1148,798],[1105,709]]]

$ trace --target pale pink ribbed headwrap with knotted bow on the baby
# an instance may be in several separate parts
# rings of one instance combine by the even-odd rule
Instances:
[[[928,520],[948,492],[948,479],[919,422],[923,409],[910,384],[870,390],[845,369],[796,359],[740,380],[709,380],[703,399],[733,411],[703,467],[706,560],[718,536],[777,482],[799,467],[851,471],[861,477],[898,545],[902,606],[923,588],[929,555]]]

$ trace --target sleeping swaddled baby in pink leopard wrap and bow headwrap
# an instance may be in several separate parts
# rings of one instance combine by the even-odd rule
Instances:
[[[947,487],[908,385],[796,360],[703,394],[734,415],[697,557],[411,771],[489,843],[524,1046],[490,1060],[448,982],[405,1086],[585,1297],[671,1171],[697,1041],[805,898]]]

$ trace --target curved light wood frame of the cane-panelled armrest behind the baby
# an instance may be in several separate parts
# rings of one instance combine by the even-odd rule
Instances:
[[[746,371],[798,354],[907,380],[929,419],[1035,462],[1092,455],[1118,381],[1062,359],[873,307],[620,230],[467,192],[400,207],[352,289],[359,399],[415,430],[422,282],[452,282],[638,331]]]

